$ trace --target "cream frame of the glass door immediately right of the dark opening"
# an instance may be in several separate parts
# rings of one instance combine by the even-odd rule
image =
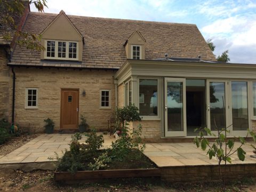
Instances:
[[[231,109],[230,109],[230,83],[228,80],[225,79],[206,79],[206,119],[207,119],[207,128],[211,130],[211,103],[210,103],[210,82],[220,82],[225,83],[225,115],[226,115],[226,127],[228,127],[228,130],[231,133],[231,122],[230,122],[230,115]],[[212,131],[214,134],[218,134],[218,131]],[[230,133],[227,133],[227,135],[230,135]]]

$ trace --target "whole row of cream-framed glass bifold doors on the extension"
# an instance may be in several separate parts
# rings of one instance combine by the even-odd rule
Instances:
[[[193,119],[191,120],[191,115],[189,115],[191,114],[191,107],[189,106],[196,106],[196,103],[193,102],[198,101],[196,98],[194,100],[189,99],[191,98],[191,90],[188,90],[191,87],[189,85],[186,87],[186,80],[188,84],[192,84],[192,79],[189,81],[185,78],[165,78],[165,137],[190,135],[187,134],[187,125],[189,127],[189,122],[193,122]],[[212,132],[217,133],[218,129],[228,127],[229,135],[245,135],[249,128],[247,82],[207,79],[204,89],[206,97],[201,97],[200,99],[204,101],[201,101],[199,105],[197,104],[198,108],[203,107],[204,109],[199,114],[194,109],[194,122],[195,119],[205,119],[204,126],[211,129]],[[186,115],[187,110],[188,115]],[[196,126],[194,127],[196,128]],[[201,126],[201,128],[204,127]]]

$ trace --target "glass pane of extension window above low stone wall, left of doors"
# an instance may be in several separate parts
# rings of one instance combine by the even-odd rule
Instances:
[[[140,79],[140,115],[157,116],[157,79]]]

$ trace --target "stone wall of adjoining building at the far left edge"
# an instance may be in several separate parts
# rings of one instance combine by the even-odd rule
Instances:
[[[9,67],[7,55],[3,47],[0,47],[0,118],[9,116]]]

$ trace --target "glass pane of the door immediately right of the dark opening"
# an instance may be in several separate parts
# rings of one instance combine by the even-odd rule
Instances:
[[[210,82],[211,130],[226,127],[225,82]]]

